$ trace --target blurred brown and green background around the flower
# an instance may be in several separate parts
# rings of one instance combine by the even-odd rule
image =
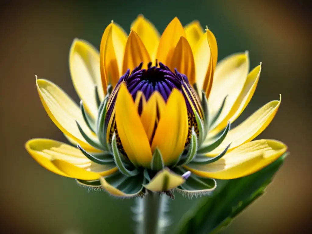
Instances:
[[[302,1],[303,2],[303,1]],[[249,50],[262,61],[251,103],[237,122],[282,94],[280,109],[258,138],[279,139],[291,155],[266,195],[222,233],[298,233],[311,229],[311,20],[309,3],[236,1],[1,1],[1,233],[133,233],[130,206],[104,192],[88,192],[53,174],[24,149],[34,137],[65,141],[43,109],[35,75],[61,86],[76,101],[68,70],[75,37],[99,48],[111,20],[129,33],[142,13],[160,32],[177,16],[198,19],[214,32],[219,60]],[[237,123],[236,122],[236,123]],[[235,124],[236,124],[235,123]],[[196,202],[177,196],[173,222]]]

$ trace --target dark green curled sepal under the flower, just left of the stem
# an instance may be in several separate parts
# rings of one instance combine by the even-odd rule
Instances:
[[[145,183],[143,173],[139,173],[136,176],[129,177],[124,175],[120,171],[117,171],[104,178],[107,183],[119,189],[121,192],[129,195],[135,194],[135,196],[143,190],[143,184]]]

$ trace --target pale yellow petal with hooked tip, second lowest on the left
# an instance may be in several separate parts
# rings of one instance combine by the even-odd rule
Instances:
[[[85,150],[99,152],[98,149],[90,146],[80,134],[75,120],[90,138],[95,139],[94,134],[85,124],[79,106],[61,88],[49,80],[37,79],[36,85],[42,105],[54,124],[64,134],[77,141]]]

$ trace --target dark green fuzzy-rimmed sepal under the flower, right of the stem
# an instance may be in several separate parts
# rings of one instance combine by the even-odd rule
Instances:
[[[184,168],[178,167],[173,170],[178,175],[183,175],[186,170]],[[195,174],[191,174],[186,181],[178,186],[176,189],[179,193],[186,197],[198,197],[198,196],[207,196],[211,195],[212,191],[217,188],[216,180],[212,178],[203,178]]]

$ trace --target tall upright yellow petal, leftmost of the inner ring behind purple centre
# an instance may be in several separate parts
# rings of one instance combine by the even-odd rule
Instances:
[[[109,83],[115,87],[122,71],[127,34],[116,23],[106,27],[100,45],[100,71],[103,90]]]

